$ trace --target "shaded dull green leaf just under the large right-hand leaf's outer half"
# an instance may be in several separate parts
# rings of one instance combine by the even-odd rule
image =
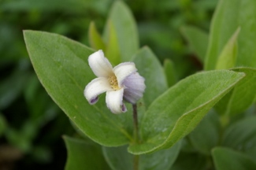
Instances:
[[[188,135],[192,145],[200,153],[210,155],[210,150],[219,142],[220,122],[217,113],[211,110]]]

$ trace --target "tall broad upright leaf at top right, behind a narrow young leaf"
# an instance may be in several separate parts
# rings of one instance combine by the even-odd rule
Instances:
[[[205,69],[214,69],[228,39],[237,28],[241,28],[238,39],[236,66],[256,67],[256,1],[221,0],[213,15],[210,27],[210,42]]]

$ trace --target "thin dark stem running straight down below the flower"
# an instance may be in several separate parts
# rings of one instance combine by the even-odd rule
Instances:
[[[138,123],[138,113],[137,113],[137,105],[132,104],[132,111],[133,111],[133,135],[135,139],[135,144],[139,144],[139,123]],[[139,169],[139,155],[134,155],[133,157],[133,169]]]

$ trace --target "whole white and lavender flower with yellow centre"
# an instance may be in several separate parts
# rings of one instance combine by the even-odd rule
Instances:
[[[98,102],[98,94],[106,92],[106,105],[112,113],[127,111],[125,101],[135,104],[143,97],[146,88],[145,79],[139,76],[133,62],[124,62],[112,67],[104,57],[102,50],[98,50],[88,57],[89,65],[97,78],[85,87],[83,94],[93,105]]]

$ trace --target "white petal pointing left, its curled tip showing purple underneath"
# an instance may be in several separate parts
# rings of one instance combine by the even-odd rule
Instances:
[[[87,84],[83,94],[87,101],[93,105],[98,102],[98,94],[102,94],[105,91],[111,90],[112,88],[109,85],[109,80],[105,77],[98,77]]]

